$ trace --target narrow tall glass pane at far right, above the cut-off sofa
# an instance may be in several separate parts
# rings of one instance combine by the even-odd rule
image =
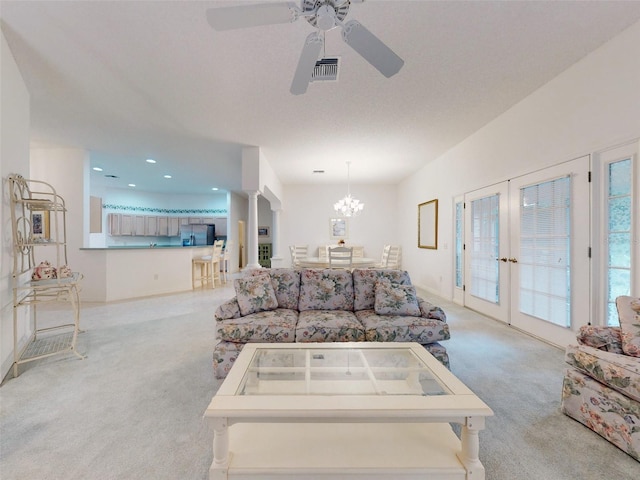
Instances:
[[[618,325],[616,297],[631,292],[631,159],[608,165],[607,324]]]

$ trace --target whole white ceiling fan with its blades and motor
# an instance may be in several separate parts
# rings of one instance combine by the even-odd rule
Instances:
[[[302,0],[298,7],[293,2],[262,3],[235,7],[210,8],[207,21],[215,30],[233,30],[292,23],[305,18],[317,30],[307,37],[291,83],[291,93],[307,91],[316,61],[324,45],[324,33],[335,27],[342,29],[342,39],[373,65],[385,77],[398,73],[404,65],[398,55],[356,20],[343,23],[352,3],[364,0]]]

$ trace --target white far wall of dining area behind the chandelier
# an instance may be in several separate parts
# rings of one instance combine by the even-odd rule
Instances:
[[[346,185],[285,185],[286,205],[281,214],[281,255],[290,265],[289,245],[309,245],[316,254],[320,245],[335,244],[329,220],[336,218],[333,204],[347,194]],[[351,185],[351,194],[365,204],[363,212],[348,220],[347,245],[363,245],[365,256],[382,256],[382,247],[396,244],[397,193],[394,185]],[[417,217],[413,219],[415,223]]]

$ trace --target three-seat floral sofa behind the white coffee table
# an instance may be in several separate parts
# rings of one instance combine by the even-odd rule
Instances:
[[[258,269],[215,312],[213,367],[225,378],[250,342],[418,342],[445,366],[449,326],[406,271]]]

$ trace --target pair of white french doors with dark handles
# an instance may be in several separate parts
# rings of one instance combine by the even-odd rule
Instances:
[[[590,318],[589,157],[465,195],[465,305],[564,346]]]

